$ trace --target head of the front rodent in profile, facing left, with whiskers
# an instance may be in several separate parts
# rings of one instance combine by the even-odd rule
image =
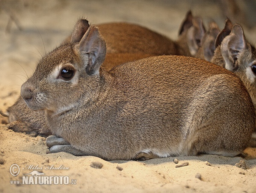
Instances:
[[[98,28],[79,20],[71,42],[38,63],[32,77],[21,86],[21,96],[33,110],[68,111],[96,94],[105,54],[105,40]]]

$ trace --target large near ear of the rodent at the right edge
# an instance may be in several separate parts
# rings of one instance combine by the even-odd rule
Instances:
[[[231,33],[221,43],[221,55],[225,60],[225,68],[229,71],[236,71],[239,67],[236,60],[247,48],[242,27],[238,24],[234,25]]]

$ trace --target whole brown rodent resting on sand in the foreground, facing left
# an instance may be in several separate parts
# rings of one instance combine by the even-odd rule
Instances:
[[[50,130],[63,138],[47,138],[51,152],[129,160],[140,153],[236,156],[246,147],[254,106],[232,72],[184,56],[148,57],[108,72],[97,27],[72,37],[21,87],[29,108],[45,110]]]

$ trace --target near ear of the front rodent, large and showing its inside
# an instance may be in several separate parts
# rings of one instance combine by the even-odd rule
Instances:
[[[99,68],[105,60],[106,56],[106,43],[99,29],[96,26],[90,26],[87,32],[79,42],[79,51],[81,52],[82,58],[87,58],[86,72],[89,75],[99,73]]]

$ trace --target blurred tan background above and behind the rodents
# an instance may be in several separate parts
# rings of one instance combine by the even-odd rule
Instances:
[[[223,28],[226,17],[256,43],[256,0],[0,0],[0,100],[21,84],[45,53],[59,45],[79,17],[91,24],[130,22],[177,39],[186,12]]]

